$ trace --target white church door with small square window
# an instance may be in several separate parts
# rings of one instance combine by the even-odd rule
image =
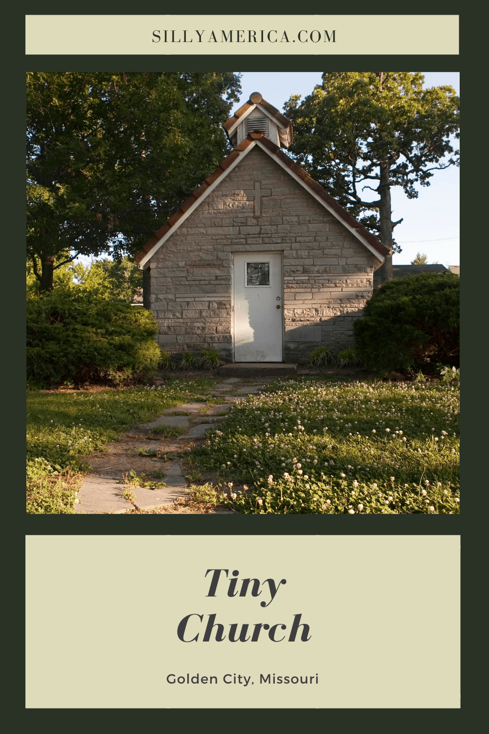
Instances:
[[[234,256],[235,362],[282,362],[282,255]]]

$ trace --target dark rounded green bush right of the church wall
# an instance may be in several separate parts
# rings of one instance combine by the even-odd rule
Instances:
[[[407,371],[427,363],[458,366],[460,279],[452,273],[395,278],[374,291],[365,316],[355,322],[355,344],[364,366]]]

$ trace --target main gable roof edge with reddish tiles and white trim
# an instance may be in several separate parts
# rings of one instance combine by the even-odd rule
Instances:
[[[239,110],[238,110],[239,112]],[[180,205],[177,211],[174,211],[171,217],[166,220],[166,224],[158,229],[152,237],[144,244],[142,250],[135,256],[135,260],[139,263],[140,268],[152,258],[161,245],[171,236],[175,230],[187,219],[187,217],[199,206],[199,203],[210,194],[218,183],[227,176],[227,174],[238,164],[240,160],[246,156],[250,150],[258,147],[268,153],[268,155],[276,161],[285,171],[287,171],[306,191],[312,195],[320,204],[322,204],[331,214],[336,217],[350,232],[358,239],[367,250],[370,250],[375,258],[383,263],[386,255],[389,255],[389,249],[383,245],[380,240],[372,233],[364,228],[360,222],[348,214],[345,208],[339,206],[334,198],[329,195],[320,183],[314,181],[303,168],[294,163],[278,145],[268,140],[262,133],[251,133],[238,148],[221,161],[218,168],[210,173],[194,193]]]

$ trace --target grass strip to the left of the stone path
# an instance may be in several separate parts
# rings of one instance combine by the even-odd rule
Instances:
[[[159,388],[27,394],[27,512],[73,514],[83,457],[165,408],[198,399],[215,380],[169,379]]]

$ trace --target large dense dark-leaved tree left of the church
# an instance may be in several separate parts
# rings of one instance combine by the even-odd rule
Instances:
[[[137,252],[227,154],[234,73],[27,74],[27,255]],[[224,99],[223,95],[227,95]]]

